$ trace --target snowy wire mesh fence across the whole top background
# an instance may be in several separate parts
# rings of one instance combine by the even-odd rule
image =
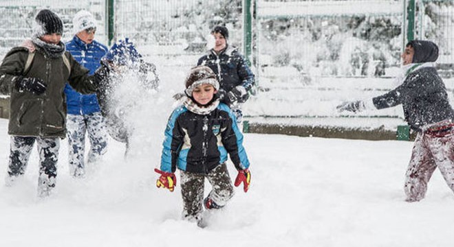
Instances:
[[[217,23],[226,23],[232,33],[229,43],[242,48],[246,1],[254,3],[252,62],[263,75],[272,64],[274,69],[291,67],[294,73],[285,75],[302,78],[386,76],[387,68],[399,64],[411,2],[415,37],[440,45],[439,62],[453,61],[452,0],[0,0],[0,55],[30,36],[33,16],[41,8],[62,17],[63,40],[72,37],[72,16],[85,9],[98,20],[98,40],[129,37],[145,54],[201,54]],[[107,12],[109,3],[112,12]]]

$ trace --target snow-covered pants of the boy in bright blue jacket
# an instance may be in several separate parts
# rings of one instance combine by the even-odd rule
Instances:
[[[80,177],[85,174],[85,132],[91,148],[88,163],[94,163],[107,151],[107,130],[101,113],[67,115],[69,174]]]

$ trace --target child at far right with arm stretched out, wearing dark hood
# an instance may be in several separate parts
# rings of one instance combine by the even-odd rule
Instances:
[[[410,41],[402,54],[404,73],[396,89],[370,101],[345,102],[340,112],[382,109],[402,104],[405,120],[418,132],[405,174],[408,202],[424,198],[427,183],[438,167],[454,191],[454,110],[433,62],[438,47],[426,40]]]

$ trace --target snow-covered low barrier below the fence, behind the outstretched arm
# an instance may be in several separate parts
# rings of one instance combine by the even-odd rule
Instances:
[[[376,133],[382,135],[377,138],[389,139],[407,125],[402,106],[356,114],[336,110],[341,102],[371,100],[391,91],[398,86],[393,78],[312,78],[310,82],[290,77],[284,82],[260,79],[257,95],[244,105],[244,119],[256,128],[252,131],[281,130],[296,135],[325,131],[323,137],[332,134],[330,137],[336,138],[354,138],[354,133],[360,133],[360,139],[374,139]],[[444,82],[454,106],[454,78]]]

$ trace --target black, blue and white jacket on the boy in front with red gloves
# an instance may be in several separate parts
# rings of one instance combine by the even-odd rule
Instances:
[[[238,170],[249,167],[235,115],[226,104],[219,104],[201,115],[180,106],[173,110],[165,130],[161,170],[208,173],[227,161],[230,155]]]

